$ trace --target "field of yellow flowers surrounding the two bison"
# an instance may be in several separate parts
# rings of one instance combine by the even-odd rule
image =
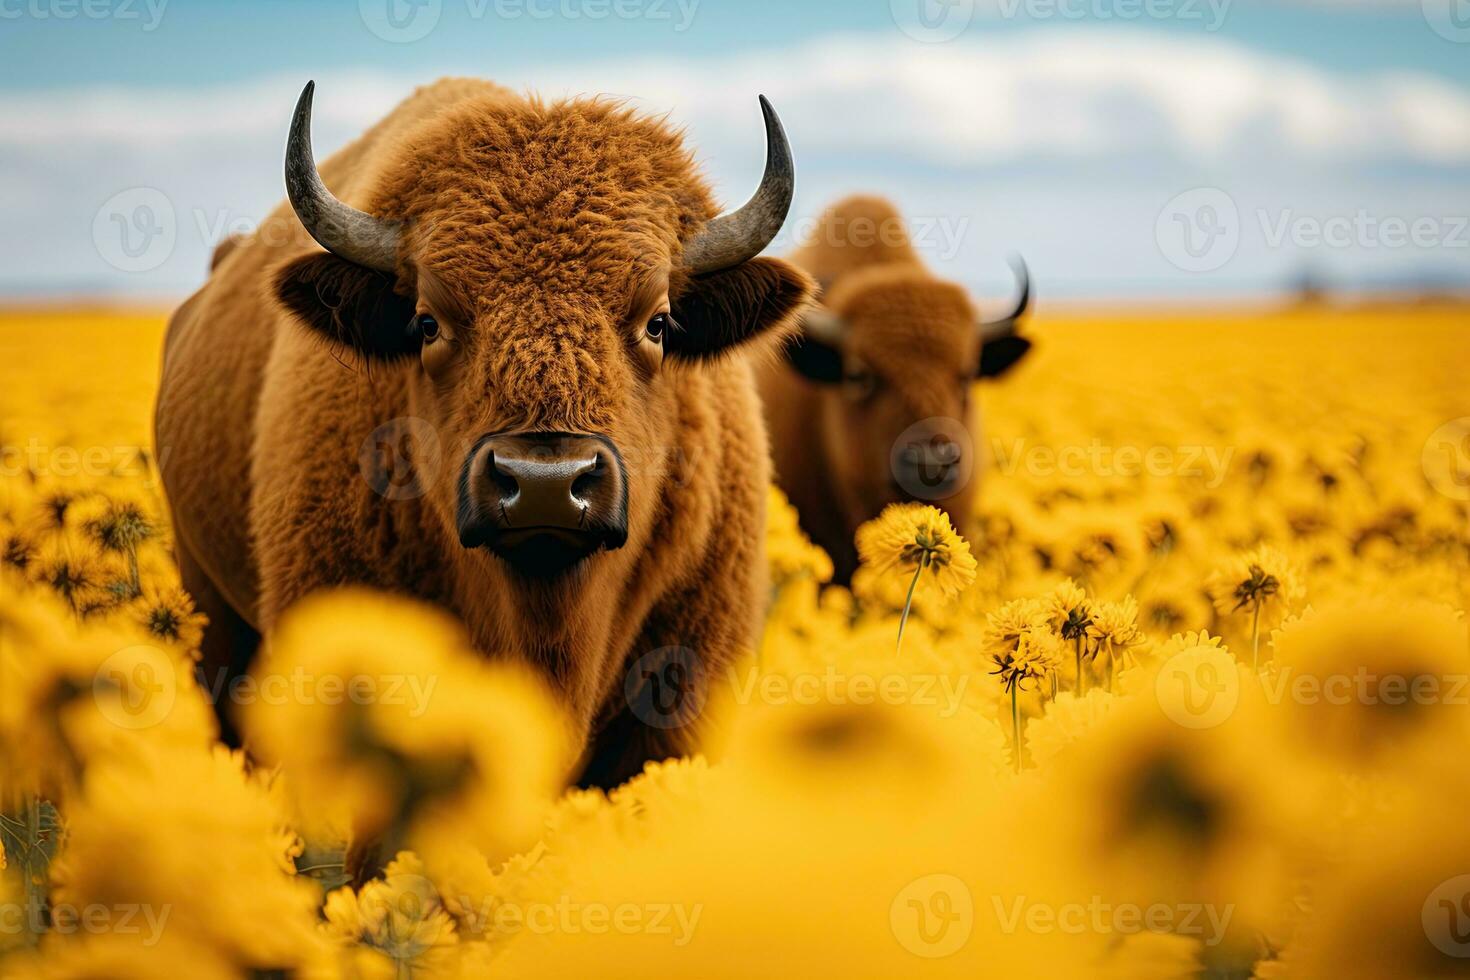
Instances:
[[[706,755],[604,795],[534,679],[363,592],[215,745],[163,316],[0,314],[0,977],[1470,976],[1466,322],[1042,319],[980,532],[889,511],[823,591],[772,491]]]

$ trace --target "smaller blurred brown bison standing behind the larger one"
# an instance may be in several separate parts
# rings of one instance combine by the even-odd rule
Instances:
[[[1030,301],[1019,260],[1013,311],[980,322],[964,289],[919,259],[903,216],[885,200],[829,207],[792,263],[822,287],[819,309],[785,360],[763,367],[760,391],[776,480],[835,580],[857,567],[853,533],[889,502],[942,507],[966,530],[976,489],[970,392],[1030,348],[1016,326]]]

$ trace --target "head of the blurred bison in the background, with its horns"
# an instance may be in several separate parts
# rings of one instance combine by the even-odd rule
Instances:
[[[854,270],[806,314],[786,354],[825,388],[817,425],[850,525],[903,500],[945,507],[957,522],[969,516],[972,388],[1030,350],[1016,334],[1030,282],[1025,263],[1014,267],[1020,297],[994,322],[976,317],[964,289],[908,263]]]

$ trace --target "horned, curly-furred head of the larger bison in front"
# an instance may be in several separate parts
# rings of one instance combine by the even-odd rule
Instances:
[[[318,173],[312,91],[287,187],[326,253],[285,264],[276,292],[337,347],[392,366],[447,447],[429,489],[447,529],[537,577],[647,535],[689,423],[678,386],[811,294],[792,266],[756,259],[792,192],[770,104],[761,185],[723,216],[662,120],[485,90],[394,145],[347,150],[362,212]]]

